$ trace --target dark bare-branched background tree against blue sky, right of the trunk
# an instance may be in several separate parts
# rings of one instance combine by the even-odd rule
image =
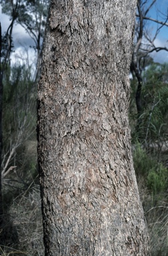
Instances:
[[[137,107],[137,135],[140,136],[139,126],[141,125],[141,115],[143,114],[143,100],[142,100],[142,89],[143,89],[143,71],[147,65],[149,65],[149,54],[153,51],[168,51],[167,47],[155,46],[155,39],[158,37],[159,32],[163,26],[167,26],[167,13],[165,14],[165,20],[159,21],[149,17],[149,12],[156,4],[157,0],[153,1],[137,1],[137,13],[135,23],[135,38],[134,47],[131,61],[131,74],[133,79],[137,81],[135,102]],[[159,10],[157,10],[159,13]],[[158,24],[155,33],[151,34],[147,20],[153,21]],[[148,60],[148,61],[147,61]],[[141,136],[140,136],[141,137]],[[141,139],[139,137],[139,139]]]

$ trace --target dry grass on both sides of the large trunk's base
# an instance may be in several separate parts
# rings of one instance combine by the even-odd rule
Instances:
[[[167,195],[153,197],[145,187],[144,177],[138,177],[139,193],[151,242],[151,256],[168,255],[168,202]],[[165,200],[163,200],[165,199]],[[39,185],[33,184],[10,206],[5,231],[11,241],[0,247],[0,255],[43,256],[43,225]]]

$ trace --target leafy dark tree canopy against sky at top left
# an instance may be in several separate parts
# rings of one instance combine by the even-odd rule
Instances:
[[[49,0],[0,0],[2,12],[25,28],[39,51],[45,31]]]

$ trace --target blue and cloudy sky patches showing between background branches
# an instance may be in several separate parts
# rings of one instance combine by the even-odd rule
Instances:
[[[149,0],[149,3],[152,0]],[[158,14],[157,10],[160,10],[161,13]],[[149,17],[153,19],[159,19],[161,21],[165,21],[165,17],[163,13],[167,13],[168,11],[168,1],[167,0],[157,0],[155,7],[151,9],[149,12]],[[3,13],[1,13],[1,6],[0,6],[0,21],[1,21],[1,27],[2,32],[4,33],[7,31],[7,27],[10,24],[9,17]],[[154,34],[155,29],[157,28],[157,23],[146,21],[147,25],[150,25],[150,33]],[[168,23],[168,21],[167,21]],[[15,46],[15,53],[12,54],[11,59],[12,62],[15,62],[15,59],[19,55],[23,57],[23,49],[26,48],[27,51],[30,53],[29,55],[33,58],[33,55],[35,55],[35,52],[33,49],[31,49],[29,46],[33,46],[33,40],[29,37],[29,35],[25,32],[25,29],[21,27],[21,25],[14,25],[13,27],[13,40],[14,40],[14,46]],[[157,36],[157,39],[155,39],[155,46],[157,47],[167,47],[168,48],[168,27],[163,27],[161,29],[161,32]],[[155,62],[164,63],[168,62],[168,51],[159,51],[158,53],[152,53],[152,57]]]

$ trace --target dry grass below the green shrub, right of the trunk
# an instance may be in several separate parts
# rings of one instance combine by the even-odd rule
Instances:
[[[139,177],[139,194],[150,236],[151,256],[168,255],[168,201],[167,194],[151,195],[145,187],[144,177]],[[164,200],[165,199],[165,200]]]

